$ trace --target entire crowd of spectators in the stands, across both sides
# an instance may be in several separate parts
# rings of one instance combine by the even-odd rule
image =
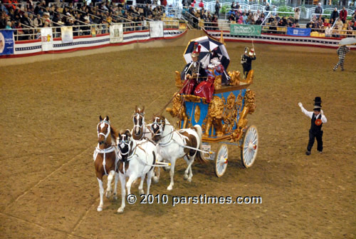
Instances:
[[[28,28],[41,28],[46,26],[73,26],[73,35],[90,34],[90,24],[100,24],[100,33],[108,32],[112,23],[125,22],[125,30],[147,29],[147,21],[162,19],[167,0],[137,0],[137,5],[125,4],[125,0],[92,1],[89,5],[78,0],[63,3],[50,3],[48,0],[33,4],[27,0],[26,4],[16,4],[16,0],[5,0],[0,7],[0,29],[15,29],[19,39],[28,39]],[[218,26],[219,10],[221,5],[216,0],[215,12],[204,9],[202,0],[182,0],[184,12],[195,16],[190,21],[194,26],[199,26],[199,21],[204,23],[206,29]],[[199,7],[196,7],[199,5]],[[184,14],[183,12],[183,14]],[[270,14],[271,13],[271,14]],[[276,9],[271,9],[266,4],[264,11],[242,10],[239,3],[233,1],[231,9],[227,12],[228,22],[232,24],[257,24],[266,25],[269,33],[279,33],[278,27],[300,27],[300,8],[294,9],[294,16],[279,16]],[[334,11],[330,18],[323,15],[323,7],[318,4],[315,8],[313,19],[305,27],[325,33],[325,36],[339,36],[341,30],[347,33],[356,31],[356,10],[352,19],[347,21],[347,11]],[[61,31],[58,28],[58,35]],[[346,32],[346,31],[345,31]],[[21,36],[24,35],[24,36]]]

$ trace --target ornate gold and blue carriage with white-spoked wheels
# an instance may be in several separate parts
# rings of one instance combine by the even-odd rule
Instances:
[[[176,86],[182,88],[180,74],[176,71]],[[199,124],[203,131],[204,159],[215,160],[216,176],[224,175],[228,163],[228,144],[241,148],[241,162],[249,168],[256,160],[258,151],[258,131],[256,126],[248,126],[247,115],[256,108],[255,94],[248,87],[253,82],[253,70],[241,80],[239,71],[229,72],[229,86],[221,86],[221,79],[214,81],[214,95],[210,103],[206,98],[177,94],[172,108],[167,108],[171,116],[178,118],[179,128],[189,128]],[[215,153],[210,143],[221,143]]]

